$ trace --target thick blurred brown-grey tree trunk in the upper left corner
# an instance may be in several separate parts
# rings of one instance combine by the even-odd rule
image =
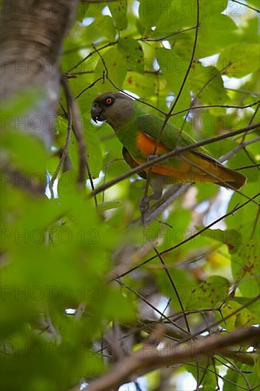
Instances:
[[[76,0],[4,0],[2,4],[1,102],[10,104],[26,92],[37,94],[26,113],[13,112],[11,119],[4,119],[3,130],[33,134],[47,148],[58,107],[63,38],[76,6]]]

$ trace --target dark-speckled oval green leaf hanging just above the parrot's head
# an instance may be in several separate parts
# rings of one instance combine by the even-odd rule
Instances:
[[[143,73],[143,49],[134,38],[125,37],[119,39],[119,48],[124,53],[126,65],[132,71]]]

